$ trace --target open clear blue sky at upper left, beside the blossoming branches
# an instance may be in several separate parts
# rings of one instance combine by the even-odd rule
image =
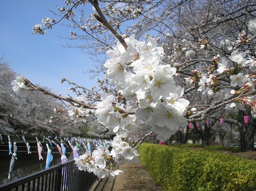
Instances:
[[[65,77],[83,87],[91,88],[96,80],[89,80],[88,69],[93,68],[90,55],[79,49],[61,45],[70,41],[70,28],[54,26],[46,34],[32,35],[32,27],[41,24],[42,19],[53,18],[49,9],[64,5],[60,0],[1,1],[0,6],[0,56],[10,63],[17,74],[23,74],[32,83],[51,88],[56,94],[67,96],[71,85],[60,83]],[[91,11],[91,6],[86,6]],[[82,42],[79,42],[82,43]],[[102,77],[99,77],[102,78]]]

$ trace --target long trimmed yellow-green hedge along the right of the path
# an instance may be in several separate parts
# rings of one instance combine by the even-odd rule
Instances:
[[[256,190],[255,160],[155,144],[138,152],[163,190]]]

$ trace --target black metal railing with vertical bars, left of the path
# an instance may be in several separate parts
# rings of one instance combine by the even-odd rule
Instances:
[[[78,170],[74,160],[0,185],[1,191],[86,191],[97,176]]]

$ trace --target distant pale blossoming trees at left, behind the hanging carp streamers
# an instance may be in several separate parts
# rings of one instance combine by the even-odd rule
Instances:
[[[64,107],[56,99],[45,96],[40,92],[27,92],[26,97],[16,96],[12,89],[12,80],[17,74],[13,71],[4,57],[0,59],[0,131],[7,133],[59,133],[60,128],[65,130],[65,123],[69,133],[78,133],[78,125],[63,121],[63,118],[56,120],[58,112],[54,108]],[[48,88],[44,88],[48,89]],[[21,88],[21,91],[23,89]],[[49,120],[55,121],[50,123]],[[26,134],[25,133],[25,134]]]

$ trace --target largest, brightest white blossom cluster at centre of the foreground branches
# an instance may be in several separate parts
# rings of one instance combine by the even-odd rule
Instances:
[[[130,36],[125,38],[125,42],[127,49],[117,42],[113,50],[107,51],[110,57],[105,62],[107,76],[112,78],[112,84],[118,93],[133,101],[134,107],[127,108],[135,111],[136,115],[133,117],[150,125],[157,138],[166,141],[180,126],[188,124],[184,115],[189,101],[182,98],[184,89],[176,86],[173,79],[177,69],[163,64],[164,50],[163,47],[157,46],[156,39],[150,37],[146,44]],[[118,124],[117,128],[124,127],[122,130],[126,131],[127,125],[135,119],[130,120],[131,116],[125,112],[115,112],[115,108],[110,104],[112,98],[109,98],[108,101],[102,98],[103,103],[99,103],[103,106],[102,109],[97,104],[98,119],[105,116],[104,120],[99,122],[107,128],[115,122],[115,125]],[[121,108],[121,111],[125,109],[119,104],[116,104],[116,107]],[[111,120],[113,115],[115,120]],[[113,132],[117,132],[117,128],[113,127]]]

